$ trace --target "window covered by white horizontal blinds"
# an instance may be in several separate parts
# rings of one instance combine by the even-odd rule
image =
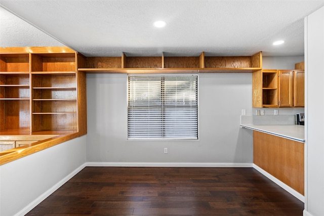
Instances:
[[[128,75],[128,138],[198,139],[198,75]]]

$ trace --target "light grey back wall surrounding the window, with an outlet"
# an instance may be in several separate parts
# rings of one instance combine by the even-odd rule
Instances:
[[[199,74],[198,141],[127,141],[127,74],[87,74],[87,161],[250,165],[252,131],[239,123],[251,93],[251,73]]]

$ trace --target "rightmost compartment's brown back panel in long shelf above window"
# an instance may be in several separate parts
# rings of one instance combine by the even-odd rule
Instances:
[[[205,56],[205,68],[250,68],[249,56]]]

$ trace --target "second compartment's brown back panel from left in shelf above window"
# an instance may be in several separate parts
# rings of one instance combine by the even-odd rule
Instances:
[[[162,68],[162,58],[127,57],[126,68]]]

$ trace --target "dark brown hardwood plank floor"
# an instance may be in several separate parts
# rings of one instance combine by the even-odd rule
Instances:
[[[86,167],[26,215],[302,215],[254,168]]]

